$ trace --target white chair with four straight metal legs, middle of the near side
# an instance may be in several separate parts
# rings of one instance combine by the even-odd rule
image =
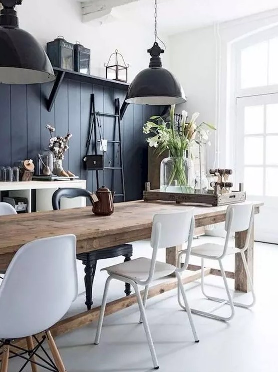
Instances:
[[[100,310],[100,317],[97,327],[97,333],[95,338],[95,344],[99,344],[101,329],[103,324],[105,306],[107,302],[107,294],[109,284],[112,279],[117,279],[123,282],[130,283],[135,290],[137,301],[140,309],[141,319],[146,332],[147,340],[150,347],[150,352],[154,364],[154,368],[158,369],[158,361],[150,333],[148,321],[145,313],[145,306],[148,297],[149,285],[153,280],[163,278],[175,272],[177,280],[179,282],[183,301],[185,303],[188,318],[192,328],[195,342],[199,342],[198,336],[193,324],[190,307],[187,303],[184,288],[182,286],[182,272],[188,266],[188,257],[182,269],[178,269],[173,265],[156,261],[157,250],[159,248],[167,248],[187,242],[187,250],[190,252],[192,237],[194,232],[194,217],[193,208],[186,212],[176,212],[171,214],[159,214],[155,215],[152,225],[151,235],[151,247],[153,248],[152,258],[137,258],[135,260],[124,262],[122,264],[107,267],[106,270],[109,277],[105,283],[105,289],[103,294],[103,300]],[[144,286],[144,297],[143,301],[139,292],[138,285]]]

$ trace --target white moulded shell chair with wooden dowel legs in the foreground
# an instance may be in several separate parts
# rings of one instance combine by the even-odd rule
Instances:
[[[0,287],[1,372],[8,371],[10,354],[25,359],[25,365],[31,362],[33,372],[37,365],[66,371],[49,328],[65,315],[77,291],[74,235],[36,240],[19,249]],[[44,333],[42,340],[36,336],[40,332]],[[32,335],[38,343],[35,347]],[[28,349],[17,344],[10,348],[17,338],[26,338]],[[54,361],[42,348],[45,340]],[[40,347],[45,357],[37,353]]]

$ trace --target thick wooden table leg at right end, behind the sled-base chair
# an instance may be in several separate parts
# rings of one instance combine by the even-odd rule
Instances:
[[[247,231],[236,232],[235,233],[235,247],[242,249],[246,242],[246,236],[247,236]],[[253,247],[254,247],[254,226],[252,227],[252,231],[251,231],[249,247],[245,251],[245,257],[246,257],[246,261],[248,264],[248,268],[249,268],[252,280],[253,280],[253,264],[254,264]],[[249,282],[248,282],[248,279],[247,279],[247,276],[244,270],[243,262],[242,262],[242,259],[239,253],[235,255],[234,272],[235,272],[234,289],[240,292],[245,292],[245,293],[249,292],[250,291]]]

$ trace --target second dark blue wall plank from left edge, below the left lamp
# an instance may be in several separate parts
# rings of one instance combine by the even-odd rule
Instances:
[[[12,164],[27,158],[27,86],[11,85]]]

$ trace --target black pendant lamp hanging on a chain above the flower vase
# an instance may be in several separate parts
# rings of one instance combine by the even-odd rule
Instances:
[[[162,68],[160,54],[164,53],[157,43],[157,0],[155,0],[155,43],[148,53],[149,68],[139,72],[127,92],[126,102],[141,105],[173,105],[186,102],[183,89],[175,76]]]

